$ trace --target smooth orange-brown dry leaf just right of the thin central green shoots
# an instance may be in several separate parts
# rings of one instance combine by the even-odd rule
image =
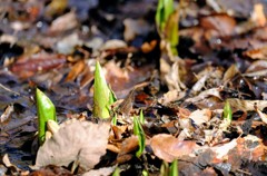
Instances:
[[[150,146],[157,157],[169,163],[182,155],[194,154],[194,150],[198,148],[195,141],[178,140],[167,134],[154,136],[150,140]]]

